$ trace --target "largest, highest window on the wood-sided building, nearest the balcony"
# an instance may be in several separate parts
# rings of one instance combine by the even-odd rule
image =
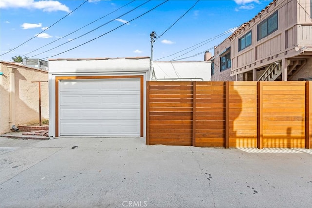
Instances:
[[[267,19],[258,24],[258,40],[270,35],[278,30],[278,13],[277,11]]]

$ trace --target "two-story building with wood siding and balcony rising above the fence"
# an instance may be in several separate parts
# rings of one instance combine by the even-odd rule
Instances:
[[[212,81],[312,80],[312,0],[274,0],[210,60]]]

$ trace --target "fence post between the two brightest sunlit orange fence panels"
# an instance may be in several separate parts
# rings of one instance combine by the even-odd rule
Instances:
[[[257,83],[257,148],[263,148],[263,120],[262,120],[262,96],[263,82]]]

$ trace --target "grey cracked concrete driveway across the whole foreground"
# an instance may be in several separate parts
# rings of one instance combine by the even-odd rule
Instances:
[[[311,208],[312,151],[0,138],[1,208]],[[76,147],[75,147],[76,146]]]

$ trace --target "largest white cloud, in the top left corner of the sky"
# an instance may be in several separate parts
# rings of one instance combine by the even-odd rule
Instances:
[[[70,12],[70,9],[55,0],[1,0],[0,8],[25,8],[25,9],[40,9],[44,12],[53,12],[53,11],[65,11]]]

